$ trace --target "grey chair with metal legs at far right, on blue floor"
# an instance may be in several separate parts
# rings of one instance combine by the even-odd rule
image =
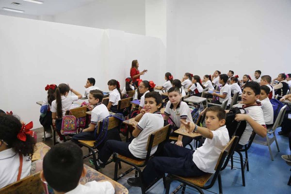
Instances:
[[[267,136],[265,138],[262,138],[262,137],[259,137],[257,136],[255,139],[254,139],[254,143],[255,144],[260,144],[260,145],[263,145],[263,146],[268,146],[269,147],[269,152],[270,152],[270,156],[271,156],[271,160],[274,161],[274,158],[273,158],[273,154],[272,154],[272,150],[271,150],[271,145],[272,143],[275,141],[276,142],[276,146],[277,146],[277,150],[278,152],[280,152],[280,149],[279,149],[279,145],[278,145],[278,142],[277,142],[277,138],[276,138],[276,134],[275,134],[275,131],[278,127],[280,127],[282,121],[283,121],[283,118],[284,118],[284,115],[285,115],[285,112],[286,112],[286,109],[287,109],[287,105],[284,105],[281,109],[280,109],[280,112],[278,113],[278,116],[275,120],[275,123],[274,125],[267,129]],[[272,135],[273,134],[273,137],[270,138],[268,137],[269,135]]]

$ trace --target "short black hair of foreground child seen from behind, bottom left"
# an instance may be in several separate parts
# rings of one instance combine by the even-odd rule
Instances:
[[[75,189],[83,171],[83,152],[72,142],[53,146],[43,160],[44,177],[58,192]]]

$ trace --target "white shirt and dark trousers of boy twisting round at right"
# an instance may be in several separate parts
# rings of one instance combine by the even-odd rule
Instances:
[[[264,114],[261,109],[260,102],[257,101],[255,105],[250,105],[250,106],[243,105],[242,109],[244,109],[246,111],[246,114],[249,115],[254,121],[256,121],[257,123],[259,123],[260,125],[266,128]],[[244,113],[244,111],[241,111],[241,112]],[[253,132],[253,128],[248,122],[246,122],[246,127],[245,127],[244,132],[242,133],[242,137],[240,139],[239,145],[241,146],[246,145],[251,137],[252,132]]]

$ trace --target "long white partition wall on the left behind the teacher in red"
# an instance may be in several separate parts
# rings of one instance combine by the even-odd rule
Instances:
[[[0,23],[0,109],[32,120],[34,129],[41,127],[36,101],[47,96],[47,84],[69,83],[83,93],[94,77],[103,91],[110,79],[123,88],[134,59],[148,69],[143,80],[162,79],[159,38],[11,16],[0,16]]]

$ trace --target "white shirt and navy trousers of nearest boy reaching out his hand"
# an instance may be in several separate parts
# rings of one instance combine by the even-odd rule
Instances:
[[[162,157],[154,157],[147,163],[142,176],[148,186],[164,173],[182,177],[199,177],[215,173],[215,166],[222,149],[229,142],[226,126],[212,130],[213,138],[206,139],[195,151],[174,144],[165,144]]]

